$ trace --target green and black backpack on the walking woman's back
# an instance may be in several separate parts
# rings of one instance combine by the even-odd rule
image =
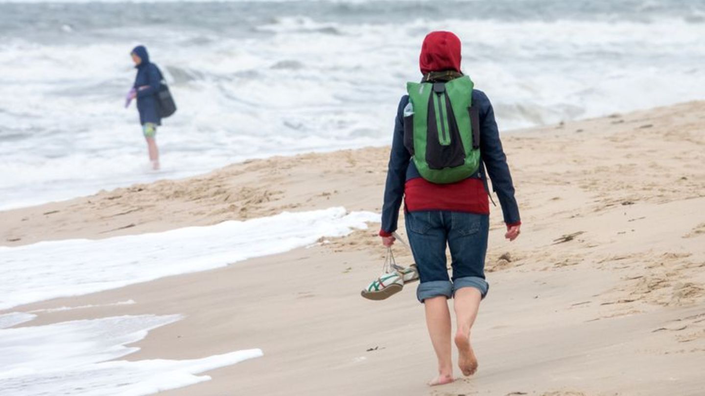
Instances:
[[[404,145],[422,178],[437,184],[477,173],[479,117],[472,107],[472,80],[409,82],[404,110]]]

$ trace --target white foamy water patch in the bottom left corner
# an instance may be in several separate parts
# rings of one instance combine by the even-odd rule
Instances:
[[[117,316],[0,329],[0,394],[137,396],[209,380],[198,374],[262,356],[245,349],[202,359],[114,360],[180,316]]]

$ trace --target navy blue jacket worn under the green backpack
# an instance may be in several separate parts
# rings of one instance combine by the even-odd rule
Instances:
[[[387,182],[384,187],[384,205],[382,206],[382,230],[386,233],[393,233],[397,229],[399,208],[404,197],[405,182],[421,177],[414,162],[410,161],[411,154],[404,147],[403,112],[408,103],[408,95],[404,95],[399,101],[392,150],[389,155]],[[494,120],[492,104],[484,92],[473,89],[472,106],[479,107],[480,156],[482,161],[480,161],[480,168],[477,174],[471,177],[482,178],[487,189],[486,174],[489,174],[492,180],[492,188],[497,193],[499,204],[502,206],[505,223],[519,223],[519,207],[516,199],[514,199],[512,176],[509,173],[507,157],[504,155],[502,142],[499,139],[499,130]]]

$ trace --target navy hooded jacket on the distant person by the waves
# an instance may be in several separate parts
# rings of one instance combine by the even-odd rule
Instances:
[[[137,111],[140,112],[140,124],[154,123],[161,125],[159,103],[157,102],[157,93],[161,85],[161,73],[157,65],[149,62],[149,54],[147,54],[147,49],[144,46],[135,47],[133,53],[142,59],[142,62],[135,66],[137,68],[137,76],[133,85],[137,90]],[[145,85],[148,88],[138,89]]]

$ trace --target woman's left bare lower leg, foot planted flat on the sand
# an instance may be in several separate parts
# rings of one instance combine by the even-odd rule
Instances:
[[[443,385],[453,382],[453,359],[450,356],[450,311],[446,297],[439,296],[424,301],[426,326],[439,360],[439,376],[429,385]]]

